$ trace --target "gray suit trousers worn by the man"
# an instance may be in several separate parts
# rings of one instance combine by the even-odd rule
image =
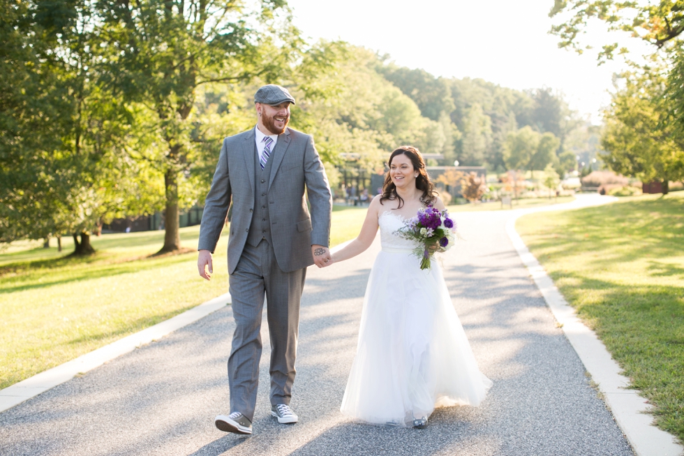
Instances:
[[[290,404],[295,381],[299,299],[305,278],[306,268],[283,272],[276,263],[273,247],[265,240],[257,247],[245,245],[229,279],[236,324],[228,358],[231,413],[239,411],[249,420],[254,416],[264,296],[271,338],[271,404]]]

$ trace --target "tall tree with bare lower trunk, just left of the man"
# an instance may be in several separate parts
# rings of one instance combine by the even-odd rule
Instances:
[[[109,75],[103,87],[126,103],[146,105],[165,144],[163,152],[147,159],[164,179],[160,252],[177,251],[181,189],[190,190],[185,181],[216,154],[214,144],[204,143],[193,112],[198,88],[256,77],[277,80],[302,41],[283,1],[261,1],[255,12],[232,0],[99,0],[96,5],[98,40],[107,43],[95,48]]]

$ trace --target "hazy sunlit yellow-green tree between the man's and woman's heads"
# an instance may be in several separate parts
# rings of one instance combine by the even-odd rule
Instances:
[[[320,68],[321,61],[330,65]],[[324,161],[341,163],[340,154],[351,153],[355,167],[371,172],[382,169],[388,152],[399,145],[427,153],[446,147],[443,125],[423,117],[416,103],[385,79],[381,63],[362,47],[319,43],[295,68],[293,83],[303,96],[292,107],[292,124],[314,135]]]

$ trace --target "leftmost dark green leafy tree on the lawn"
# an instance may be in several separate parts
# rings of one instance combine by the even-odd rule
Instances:
[[[17,2],[6,12],[1,71],[14,87],[0,89],[0,238],[73,233],[74,253],[92,253],[90,230],[121,214],[122,200],[140,200],[124,184],[144,173],[119,154],[131,112],[95,85],[90,3]]]

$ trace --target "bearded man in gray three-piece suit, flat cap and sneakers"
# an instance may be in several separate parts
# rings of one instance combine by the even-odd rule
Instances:
[[[209,280],[214,272],[211,253],[232,198],[228,273],[236,328],[228,358],[230,414],[218,415],[215,422],[218,429],[237,434],[252,433],[264,297],[271,339],[271,414],[281,423],[297,422],[290,397],[299,299],[306,267],[322,267],[330,260],[332,197],[313,138],[288,127],[295,98],[288,89],[268,84],[256,92],[254,102],[255,128],[223,140],[198,246],[200,276]]]

